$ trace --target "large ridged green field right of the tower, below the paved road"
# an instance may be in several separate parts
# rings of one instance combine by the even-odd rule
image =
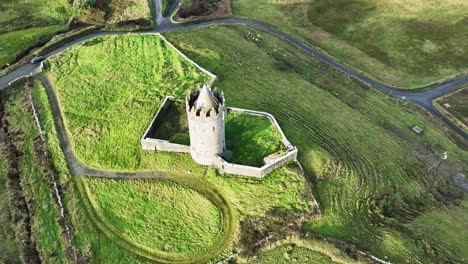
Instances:
[[[231,106],[272,113],[298,146],[301,163],[317,177],[323,213],[306,231],[391,261],[426,262],[418,238],[396,227],[438,204],[430,193],[451,191],[418,149],[449,150],[455,171],[467,171],[468,153],[412,105],[362,87],[276,38],[254,31],[261,36],[253,41],[249,31],[214,27],[167,37],[220,77],[217,86]],[[414,124],[427,133],[414,135]]]

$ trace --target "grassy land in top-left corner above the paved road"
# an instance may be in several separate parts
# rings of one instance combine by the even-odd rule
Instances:
[[[86,4],[91,3],[91,5]],[[0,67],[6,67],[29,49],[68,30],[71,18],[86,24],[125,27],[127,21],[151,25],[148,0],[5,0],[0,3]]]

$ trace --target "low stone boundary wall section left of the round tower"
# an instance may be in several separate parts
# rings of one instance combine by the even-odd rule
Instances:
[[[169,140],[155,139],[155,138],[149,138],[148,137],[148,133],[150,132],[151,128],[153,127],[153,124],[156,121],[156,118],[158,118],[161,111],[165,107],[167,107],[167,105],[169,104],[169,101],[182,101],[182,100],[178,100],[173,96],[166,96],[166,98],[164,98],[164,101],[162,102],[162,104],[159,107],[158,111],[154,115],[153,120],[151,120],[150,125],[148,126],[145,133],[141,137],[141,147],[143,148],[143,150],[150,150],[150,151],[156,151],[157,150],[157,151],[190,153],[190,146],[171,143],[171,142],[169,142]]]

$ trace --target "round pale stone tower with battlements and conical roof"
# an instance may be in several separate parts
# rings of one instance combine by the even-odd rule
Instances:
[[[203,85],[193,89],[186,100],[190,133],[190,154],[202,165],[213,165],[226,151],[224,118],[227,111],[224,96]]]

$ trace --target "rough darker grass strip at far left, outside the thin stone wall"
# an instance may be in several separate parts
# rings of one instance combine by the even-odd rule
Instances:
[[[41,142],[25,87],[12,93],[5,104],[5,113],[10,133],[21,135],[14,144],[23,153],[19,162],[21,188],[29,204],[32,237],[40,258],[47,263],[64,263],[65,242],[58,222],[60,212],[50,187],[50,168],[43,152],[36,149]]]

